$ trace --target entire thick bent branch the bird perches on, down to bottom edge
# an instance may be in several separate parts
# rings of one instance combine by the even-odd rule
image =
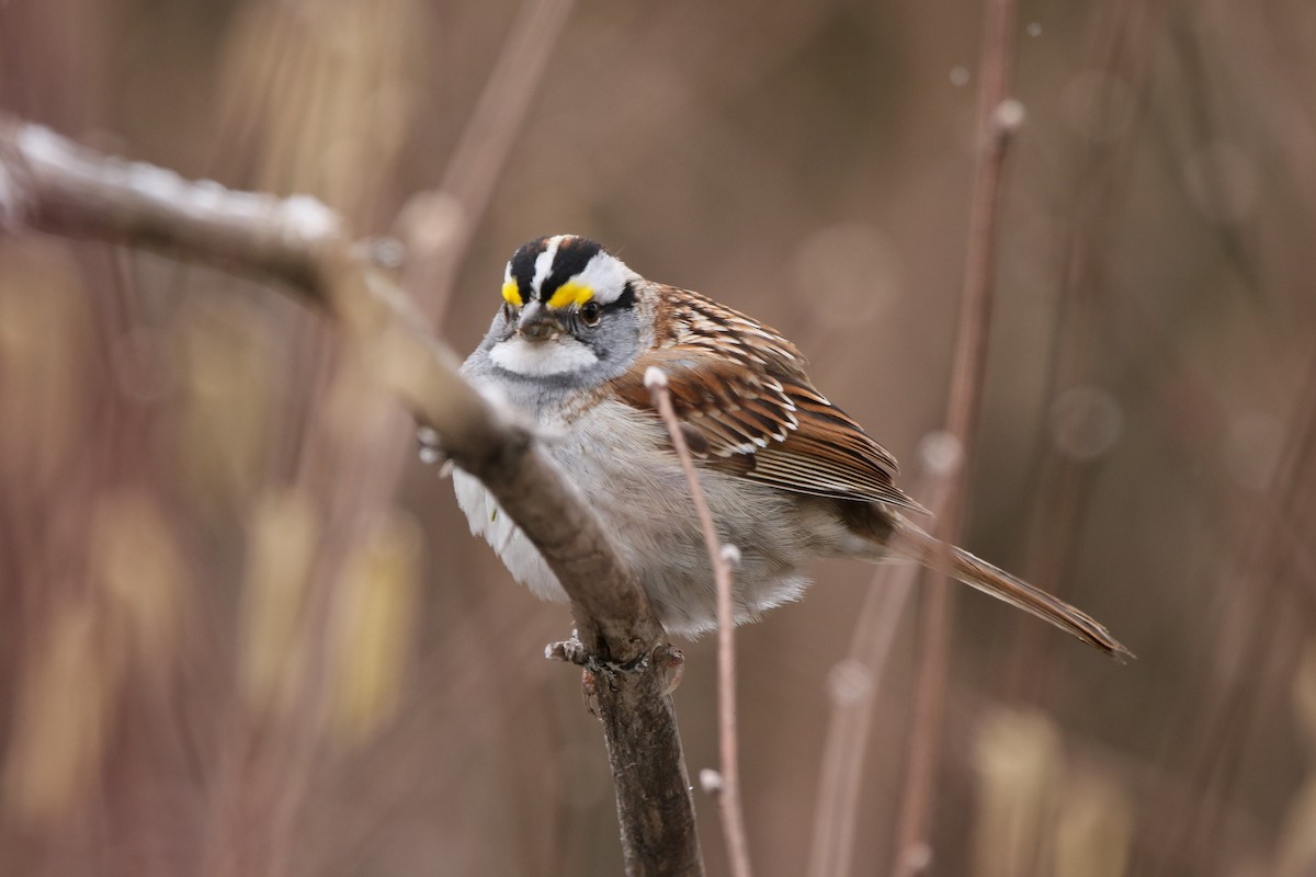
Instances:
[[[699,874],[699,841],[662,627],[597,518],[509,412],[458,375],[409,301],[311,197],[275,199],[107,158],[0,117],[0,231],[38,230],[197,259],[276,281],[329,313],[386,392],[432,427],[536,544],[597,657],[634,664],[600,686],[626,873]],[[657,660],[646,660],[657,656]]]

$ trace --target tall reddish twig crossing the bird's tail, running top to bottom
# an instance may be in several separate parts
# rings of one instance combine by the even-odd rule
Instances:
[[[987,362],[1001,178],[1011,134],[1023,122],[1023,107],[1007,99],[1013,26],[1015,1],[987,0],[978,109],[979,153],[970,204],[965,288],[959,300],[955,352],[946,398],[946,431],[959,440],[966,465],[951,479],[945,504],[934,508],[945,527],[948,542],[959,542],[963,527],[969,462],[973,459],[973,439],[978,427]],[[909,734],[909,769],[900,807],[900,824],[896,830],[892,868],[896,874],[916,873],[930,860],[928,835],[937,756],[941,751],[941,717],[946,699],[946,665],[953,622],[946,576],[933,576],[928,584],[930,586],[920,625],[920,664],[913,728]]]

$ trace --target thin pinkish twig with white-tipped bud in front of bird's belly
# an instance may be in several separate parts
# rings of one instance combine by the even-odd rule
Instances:
[[[667,375],[657,367],[645,372],[645,387],[654,400],[658,414],[662,415],[671,437],[671,444],[680,458],[680,467],[690,483],[690,497],[704,531],[704,547],[713,565],[713,581],[717,585],[717,748],[721,759],[721,777],[711,789],[717,797],[717,809],[722,817],[722,834],[726,838],[726,853],[734,877],[750,877],[749,839],[745,834],[745,813],[741,809],[740,794],[740,753],[736,730],[736,619],[732,617],[732,556],[733,546],[724,546],[717,538],[713,515],[704,501],[704,489],[695,472],[695,459],[690,455],[680,422],[671,406],[671,392],[667,389]]]

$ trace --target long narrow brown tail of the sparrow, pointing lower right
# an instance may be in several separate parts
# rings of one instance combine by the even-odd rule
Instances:
[[[975,557],[963,548],[957,548],[928,535],[908,521],[901,519],[896,526],[896,550],[900,554],[908,554],[929,569],[945,573],[951,579],[958,579],[971,588],[991,594],[996,600],[1003,600],[1044,621],[1049,621],[1120,663],[1134,656],[1120,640],[1111,636],[1111,632],[1095,618],[1070,606],[1063,600],[1051,597],[1045,590],[1040,590],[1026,581],[1016,579],[1004,569],[994,567],[980,557]]]

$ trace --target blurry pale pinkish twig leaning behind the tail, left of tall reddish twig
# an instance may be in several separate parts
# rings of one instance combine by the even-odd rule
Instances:
[[[945,502],[946,488],[961,463],[958,442],[946,433],[933,433],[920,443],[919,462],[921,477],[912,494],[933,505]],[[936,535],[930,529],[929,533]],[[859,818],[859,785],[878,684],[920,572],[921,568],[913,563],[876,568],[854,625],[850,650],[832,668],[828,678],[832,717],[822,748],[809,877],[845,877],[850,873]]]

